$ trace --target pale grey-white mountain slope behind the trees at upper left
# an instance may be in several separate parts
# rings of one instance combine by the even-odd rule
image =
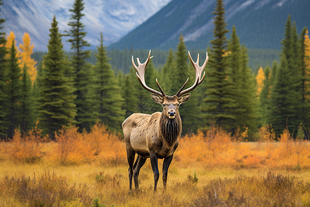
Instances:
[[[105,45],[123,37],[127,32],[143,23],[171,0],[85,0],[83,23],[87,41],[99,44],[103,32]],[[4,31],[13,31],[17,43],[22,43],[24,32],[28,32],[34,50],[46,51],[52,17],[55,15],[61,32],[69,30],[70,9],[74,0],[3,0],[1,18],[6,19]],[[63,41],[65,43],[65,41]],[[65,43],[65,48],[70,48]]]

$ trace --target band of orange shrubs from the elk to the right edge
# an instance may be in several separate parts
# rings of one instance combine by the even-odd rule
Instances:
[[[271,126],[260,129],[260,142],[240,142],[220,128],[211,128],[196,135],[180,138],[176,150],[176,161],[185,166],[203,164],[205,166],[227,166],[236,168],[310,167],[310,143],[293,139],[288,130],[280,135],[280,142],[274,141]]]

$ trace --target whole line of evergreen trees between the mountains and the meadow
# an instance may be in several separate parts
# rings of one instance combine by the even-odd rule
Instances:
[[[25,34],[18,49],[14,33],[6,38],[1,32],[5,19],[0,19],[2,139],[11,138],[15,128],[27,132],[37,119],[43,133],[51,139],[63,126],[76,125],[80,132],[90,131],[96,121],[120,132],[121,123],[133,112],[162,110],[141,87],[133,67],[128,67],[125,72],[112,69],[102,33],[92,63],[87,61],[92,52],[87,50],[90,44],[85,40],[87,32],[81,23],[83,9],[83,0],[75,0],[70,9],[70,30],[65,34],[59,32],[56,17],[52,19],[48,52],[38,66],[31,57],[34,45],[30,43],[29,34]],[[214,40],[206,48],[209,62],[205,68],[205,81],[192,92],[191,100],[180,108],[183,135],[215,126],[232,135],[245,133],[248,139],[254,140],[258,128],[268,125],[277,135],[288,128],[295,134],[302,132],[307,138],[310,128],[310,41],[307,28],[298,35],[296,23],[288,17],[281,42],[280,63],[274,61],[271,68],[267,66],[255,72],[248,67],[247,48],[240,44],[237,29],[231,28],[229,39],[227,32],[224,3],[218,0],[214,11]],[[70,53],[63,50],[63,39],[70,42]],[[112,57],[117,61],[118,51],[109,53],[114,54]],[[143,61],[147,52],[132,51],[128,57],[119,58],[130,62],[131,55]],[[152,55],[154,59],[156,55],[163,59],[160,52]],[[187,77],[189,85],[194,83],[194,68],[189,62],[182,35],[176,50],[170,49],[165,57],[160,66],[149,61],[145,81],[151,88],[156,88],[157,78],[166,94],[174,95]],[[192,52],[192,57],[196,61],[197,51]],[[205,52],[200,52],[200,65],[204,59]]]

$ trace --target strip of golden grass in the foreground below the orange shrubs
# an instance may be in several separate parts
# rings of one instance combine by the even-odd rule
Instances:
[[[0,206],[92,206],[96,199],[97,204],[103,206],[310,205],[309,169],[205,168],[200,165],[182,168],[172,162],[167,190],[163,192],[160,179],[157,193],[153,193],[149,161],[141,168],[139,190],[132,191],[125,165],[49,166],[4,161],[0,169]],[[29,180],[22,182],[21,179]],[[23,186],[25,183],[27,189]],[[59,193],[65,194],[65,191],[74,197],[63,195],[62,199]]]

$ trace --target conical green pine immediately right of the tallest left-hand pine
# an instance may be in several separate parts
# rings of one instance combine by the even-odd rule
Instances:
[[[106,126],[113,129],[121,128],[121,121],[124,119],[122,110],[123,99],[121,97],[121,88],[108,63],[106,48],[103,46],[103,35],[101,33],[100,46],[97,47],[96,54],[96,83],[95,97],[96,108],[99,120]]]

